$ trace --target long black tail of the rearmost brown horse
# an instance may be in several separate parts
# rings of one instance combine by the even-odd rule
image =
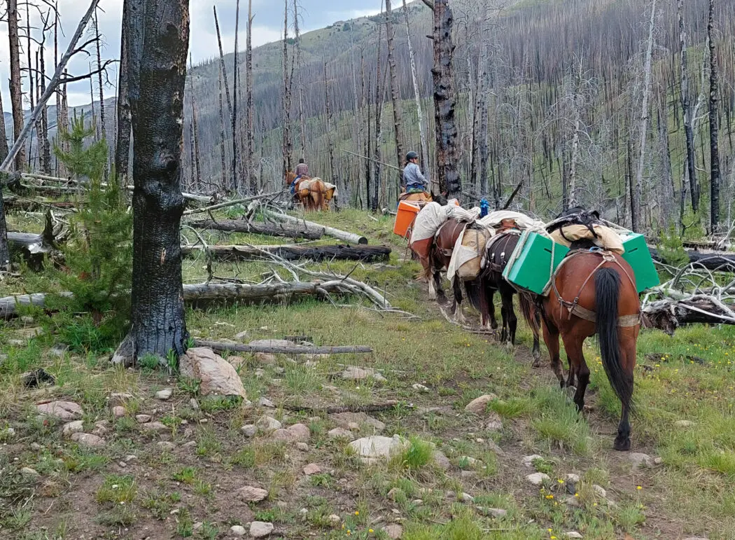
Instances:
[[[620,342],[617,333],[619,298],[620,275],[613,269],[599,269],[595,274],[595,310],[600,355],[610,386],[625,407],[632,405],[633,381],[625,377],[620,362]]]

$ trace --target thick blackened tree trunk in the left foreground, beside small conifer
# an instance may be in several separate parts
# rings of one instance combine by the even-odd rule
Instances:
[[[182,355],[184,321],[179,229],[187,0],[130,0],[123,18],[133,128],[132,326],[113,361]]]

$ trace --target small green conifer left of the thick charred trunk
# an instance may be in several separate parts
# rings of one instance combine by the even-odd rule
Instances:
[[[118,182],[104,184],[107,143],[85,141],[95,132],[73,118],[60,133],[68,150],[57,158],[85,189],[71,216],[71,241],[64,247],[60,283],[73,297],[58,298],[57,330],[72,347],[104,349],[126,331],[132,275],[132,213]]]

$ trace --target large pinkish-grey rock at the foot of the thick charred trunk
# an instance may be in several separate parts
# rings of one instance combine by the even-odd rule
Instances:
[[[200,381],[202,396],[247,397],[243,381],[234,367],[220,355],[206,347],[193,347],[179,360],[179,370],[184,377]]]

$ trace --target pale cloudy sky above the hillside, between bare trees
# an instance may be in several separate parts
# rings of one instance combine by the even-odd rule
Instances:
[[[40,2],[38,2],[40,4]],[[292,0],[289,0],[293,4]],[[309,30],[323,28],[335,21],[345,21],[350,18],[362,17],[365,15],[375,15],[381,10],[381,0],[298,0],[300,4],[299,10],[299,26],[301,33],[309,32]],[[4,2],[3,2],[4,4]],[[61,16],[61,26],[59,43],[60,53],[68,46],[68,40],[76,30],[79,20],[82,18],[89,2],[86,0],[58,0],[59,13]],[[235,0],[190,0],[190,52],[193,63],[204,62],[218,55],[217,34],[215,32],[214,14],[212,6],[216,5],[218,18],[220,22],[220,30],[222,33],[222,46],[225,52],[230,52],[234,48],[234,28],[235,28]],[[4,7],[4,6],[3,6]],[[120,29],[121,18],[123,12],[123,0],[100,0],[100,11],[98,20],[100,31],[104,39],[104,48],[102,56],[104,59],[116,59],[120,56]],[[24,7],[21,7],[21,25],[25,25],[26,13]],[[245,49],[245,26],[247,21],[247,0],[241,0],[240,3],[240,29],[239,29],[239,48]],[[283,10],[284,4],[279,0],[253,0],[253,46],[257,47],[264,43],[279,40],[283,32]],[[0,23],[0,90],[3,101],[3,108],[6,112],[10,112],[10,93],[8,90],[10,79],[9,65],[9,44],[7,38],[7,23],[4,22],[5,14],[0,13],[3,22]],[[40,15],[36,10],[31,10],[31,26],[32,35],[40,40]],[[87,27],[87,32],[91,34],[92,25]],[[34,30],[34,28],[36,30]],[[23,32],[24,33],[24,32]],[[53,36],[49,35],[50,46],[46,49],[46,70],[51,76],[51,68],[54,65],[54,49]],[[35,50],[35,45],[32,46]],[[90,50],[93,54],[96,51]],[[35,54],[35,52],[34,52]],[[90,70],[89,62],[95,60],[95,57],[87,57],[84,54],[78,54],[73,57],[68,65],[70,75],[85,74]],[[35,60],[33,60],[35,63]],[[26,65],[26,46],[23,45],[21,50],[21,66]],[[115,93],[114,85],[117,84],[117,65],[112,65],[109,74],[109,84],[105,88],[105,96],[112,96]],[[96,80],[95,80],[96,85]],[[24,85],[24,91],[27,87]],[[98,96],[98,90],[95,90],[95,96]],[[97,99],[97,98],[96,98]],[[55,98],[51,97],[51,104],[55,103]],[[68,87],[68,102],[70,106],[78,106],[88,104],[90,102],[90,82],[88,80],[76,82]],[[29,108],[29,103],[24,102],[24,109]]]

